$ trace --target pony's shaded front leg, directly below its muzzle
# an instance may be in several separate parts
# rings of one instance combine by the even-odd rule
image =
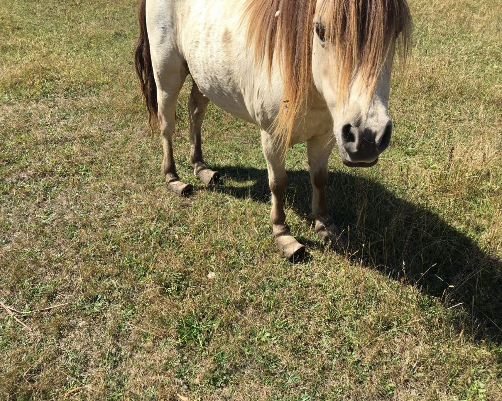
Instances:
[[[334,138],[325,135],[307,142],[310,181],[312,183],[312,212],[315,218],[315,231],[325,245],[346,245],[347,238],[336,227],[329,214],[326,201],[328,181],[328,159],[333,150]]]

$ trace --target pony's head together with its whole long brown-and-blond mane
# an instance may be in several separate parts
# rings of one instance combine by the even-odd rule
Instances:
[[[342,161],[372,166],[389,146],[388,104],[397,42],[405,55],[411,17],[406,0],[252,0],[248,38],[257,59],[278,60],[284,78],[278,137],[289,144],[312,90],[330,110]]]

